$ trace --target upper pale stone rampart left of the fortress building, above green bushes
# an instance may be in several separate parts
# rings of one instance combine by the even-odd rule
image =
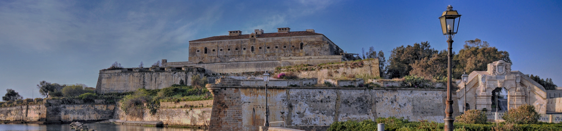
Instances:
[[[129,71],[131,69],[132,71]],[[118,70],[100,70],[96,91],[127,92],[138,88],[160,89],[179,84],[180,80],[191,85],[191,77],[196,74],[205,75],[205,69],[188,68],[186,71],[134,71],[132,68]]]

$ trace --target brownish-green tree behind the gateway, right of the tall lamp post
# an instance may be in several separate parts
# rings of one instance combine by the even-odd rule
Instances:
[[[453,78],[460,78],[463,72],[486,71],[487,65],[497,60],[511,63],[509,53],[498,51],[496,47],[491,47],[488,42],[478,38],[465,41],[464,48],[454,55],[453,60],[458,62],[453,71]]]

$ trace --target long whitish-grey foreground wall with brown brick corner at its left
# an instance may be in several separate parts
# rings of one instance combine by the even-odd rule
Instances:
[[[264,88],[212,84],[207,88],[215,97],[210,130],[257,130],[263,125]],[[445,115],[443,89],[270,87],[268,91],[269,121],[287,125],[329,125],[389,116],[442,123]]]

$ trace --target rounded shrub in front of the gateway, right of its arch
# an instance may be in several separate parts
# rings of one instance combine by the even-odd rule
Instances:
[[[534,110],[534,106],[528,104],[509,109],[507,113],[502,116],[506,123],[513,124],[535,124],[540,117],[541,115]]]

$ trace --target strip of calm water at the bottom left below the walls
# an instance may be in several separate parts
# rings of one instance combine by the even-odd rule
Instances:
[[[206,131],[206,129],[180,127],[148,127],[142,125],[121,125],[112,123],[86,123],[88,129],[103,131]],[[69,124],[0,124],[0,131],[41,130],[41,131],[74,131]]]

